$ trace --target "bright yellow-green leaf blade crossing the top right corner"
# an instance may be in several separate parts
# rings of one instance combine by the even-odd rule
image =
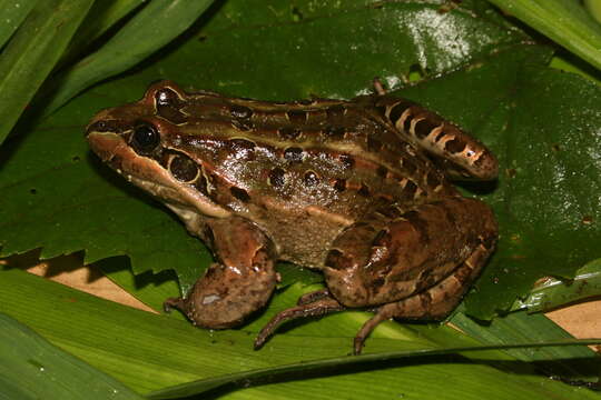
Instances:
[[[601,26],[572,0],[489,0],[601,69]]]

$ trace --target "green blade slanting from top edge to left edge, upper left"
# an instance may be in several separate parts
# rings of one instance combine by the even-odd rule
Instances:
[[[0,143],[59,60],[92,2],[38,1],[3,49],[0,57]],[[30,4],[26,2],[24,7]]]

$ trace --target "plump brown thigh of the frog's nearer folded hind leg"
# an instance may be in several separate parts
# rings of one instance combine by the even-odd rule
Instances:
[[[487,257],[496,240],[496,222],[489,207],[460,197],[418,206],[385,222],[367,221],[352,226],[335,240],[324,269],[332,294],[346,307],[396,302],[431,288],[432,293],[442,293],[440,289],[450,286],[454,271],[465,276],[460,266]],[[462,287],[475,277],[467,276]],[[431,311],[416,309],[424,317]]]

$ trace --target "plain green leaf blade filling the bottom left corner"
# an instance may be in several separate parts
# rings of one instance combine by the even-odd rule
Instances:
[[[0,399],[138,399],[119,381],[0,313]]]

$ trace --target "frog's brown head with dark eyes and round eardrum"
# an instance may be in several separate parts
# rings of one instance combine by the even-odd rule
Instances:
[[[228,211],[207,196],[201,161],[180,144],[186,96],[174,82],[155,83],[141,100],[98,112],[86,137],[105,163],[161,200],[195,231],[196,217],[226,217]]]

